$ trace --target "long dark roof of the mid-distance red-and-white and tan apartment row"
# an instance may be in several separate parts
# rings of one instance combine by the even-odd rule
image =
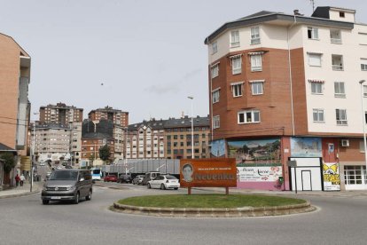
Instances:
[[[209,127],[209,116],[196,116],[193,118],[194,127]],[[152,130],[164,130],[173,128],[188,128],[191,127],[191,117],[188,115],[182,118],[168,118],[167,120],[155,120],[144,121],[142,123],[130,124],[128,130],[138,130],[141,127],[149,127]]]

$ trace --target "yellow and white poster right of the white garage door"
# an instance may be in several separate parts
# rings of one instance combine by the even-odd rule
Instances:
[[[324,191],[340,191],[340,173],[338,162],[323,163]]]

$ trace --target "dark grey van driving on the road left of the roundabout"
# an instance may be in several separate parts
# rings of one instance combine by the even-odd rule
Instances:
[[[41,199],[43,204],[50,201],[73,201],[78,204],[81,198],[89,201],[92,193],[90,170],[54,170],[43,185]]]

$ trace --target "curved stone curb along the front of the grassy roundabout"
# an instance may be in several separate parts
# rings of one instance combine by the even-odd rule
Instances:
[[[151,208],[129,206],[114,202],[113,208],[116,211],[123,213],[155,217],[266,217],[306,213],[316,210],[314,206],[311,206],[310,202],[279,207],[242,207],[223,209]]]

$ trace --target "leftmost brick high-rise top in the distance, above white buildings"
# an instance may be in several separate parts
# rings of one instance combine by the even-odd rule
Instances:
[[[82,123],[82,108],[66,106],[65,103],[40,107],[41,123]]]

